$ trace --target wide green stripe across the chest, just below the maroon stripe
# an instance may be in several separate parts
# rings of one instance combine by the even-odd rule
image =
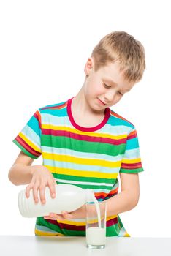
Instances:
[[[113,145],[109,143],[91,142],[86,140],[75,140],[64,136],[42,135],[42,146],[54,148],[67,148],[80,152],[107,154],[110,156],[117,156],[123,154],[126,144]]]

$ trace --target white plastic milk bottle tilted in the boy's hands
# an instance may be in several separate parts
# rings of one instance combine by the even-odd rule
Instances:
[[[39,197],[39,194],[38,194]],[[42,217],[50,212],[61,214],[61,211],[72,212],[83,206],[86,202],[94,201],[93,189],[82,189],[69,184],[56,185],[56,197],[50,196],[49,187],[45,188],[46,203],[34,202],[33,193],[26,197],[25,189],[18,194],[18,207],[23,217]],[[95,198],[96,199],[96,198]]]

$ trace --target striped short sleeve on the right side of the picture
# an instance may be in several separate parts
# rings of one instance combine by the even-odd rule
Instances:
[[[126,140],[126,150],[123,154],[120,173],[140,173],[142,171],[137,131],[134,128]]]

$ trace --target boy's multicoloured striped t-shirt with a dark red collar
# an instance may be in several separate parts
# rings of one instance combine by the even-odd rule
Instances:
[[[96,127],[80,127],[72,99],[39,108],[13,142],[31,158],[42,154],[42,165],[57,184],[94,189],[97,200],[107,200],[118,193],[118,173],[143,170],[136,129],[110,108]],[[107,216],[106,228],[107,236],[129,236],[118,215]],[[86,236],[86,219],[38,217],[35,234]]]

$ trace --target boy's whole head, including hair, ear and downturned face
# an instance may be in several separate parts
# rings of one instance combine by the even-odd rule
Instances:
[[[115,105],[141,80],[145,70],[144,48],[126,32],[107,34],[94,48],[84,70],[86,102],[93,110],[104,110]]]

